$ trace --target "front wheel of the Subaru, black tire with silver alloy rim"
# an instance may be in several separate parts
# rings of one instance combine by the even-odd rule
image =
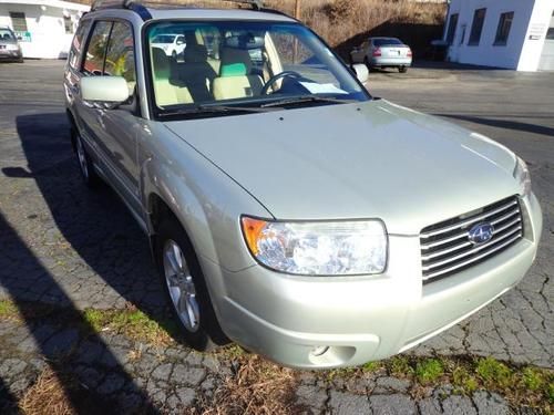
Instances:
[[[155,258],[163,290],[185,342],[202,352],[227,344],[229,340],[217,322],[198,260],[176,219],[167,218],[160,225]]]

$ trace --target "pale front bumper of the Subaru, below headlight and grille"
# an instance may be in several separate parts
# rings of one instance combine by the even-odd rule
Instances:
[[[541,237],[534,196],[525,206],[524,238],[458,274],[423,286],[419,237],[390,236],[380,276],[291,277],[255,266],[239,272],[201,260],[227,335],[294,367],[360,365],[408,350],[486,305],[531,267]],[[320,356],[315,346],[329,346]]]

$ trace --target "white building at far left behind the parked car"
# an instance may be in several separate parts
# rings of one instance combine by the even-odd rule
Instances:
[[[61,0],[0,0],[0,27],[21,38],[24,58],[65,58],[85,4]]]

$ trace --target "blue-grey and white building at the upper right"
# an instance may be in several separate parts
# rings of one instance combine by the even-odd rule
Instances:
[[[554,70],[554,0],[451,0],[444,31],[452,62]]]

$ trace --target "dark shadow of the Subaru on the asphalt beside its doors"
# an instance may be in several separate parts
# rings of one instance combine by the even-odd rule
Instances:
[[[83,270],[99,276],[113,289],[112,297],[121,297],[163,320],[167,315],[166,301],[148,240],[107,185],[90,189],[82,181],[66,115],[20,115],[16,122],[28,168],[4,167],[3,174],[34,179],[57,228],[80,257]],[[54,165],[53,155],[58,160]]]

